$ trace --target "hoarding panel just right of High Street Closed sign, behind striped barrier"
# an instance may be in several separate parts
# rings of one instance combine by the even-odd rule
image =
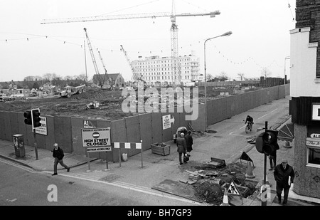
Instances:
[[[126,122],[124,119],[111,122],[111,140],[112,142],[127,142]],[[120,150],[121,154],[125,150]],[[119,162],[119,149],[112,148],[114,162]]]

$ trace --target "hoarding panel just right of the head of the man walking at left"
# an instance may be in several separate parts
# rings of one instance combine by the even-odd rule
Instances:
[[[55,142],[64,152],[73,152],[72,135],[71,135],[71,117],[54,117]]]

